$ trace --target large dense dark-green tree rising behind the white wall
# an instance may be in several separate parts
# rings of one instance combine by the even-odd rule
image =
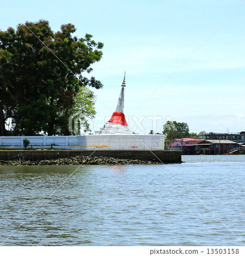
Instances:
[[[91,64],[100,61],[103,44],[92,40],[90,34],[72,37],[75,31],[74,25],[66,24],[53,32],[44,20],[20,24],[16,31],[0,31],[0,90],[8,93],[13,88],[8,99],[14,97],[6,103],[0,96],[1,132],[10,117],[14,135],[41,131],[70,134],[69,116],[77,109],[81,88],[102,87],[100,81],[83,73],[90,73]],[[78,100],[83,112],[87,104],[84,97]]]

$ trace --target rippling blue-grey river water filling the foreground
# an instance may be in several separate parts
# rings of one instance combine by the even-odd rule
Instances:
[[[243,246],[245,156],[0,166],[7,246]]]

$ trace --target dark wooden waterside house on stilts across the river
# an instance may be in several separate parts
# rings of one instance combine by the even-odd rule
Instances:
[[[243,153],[245,146],[231,140],[203,140],[195,145],[183,147],[183,154],[227,154]]]

